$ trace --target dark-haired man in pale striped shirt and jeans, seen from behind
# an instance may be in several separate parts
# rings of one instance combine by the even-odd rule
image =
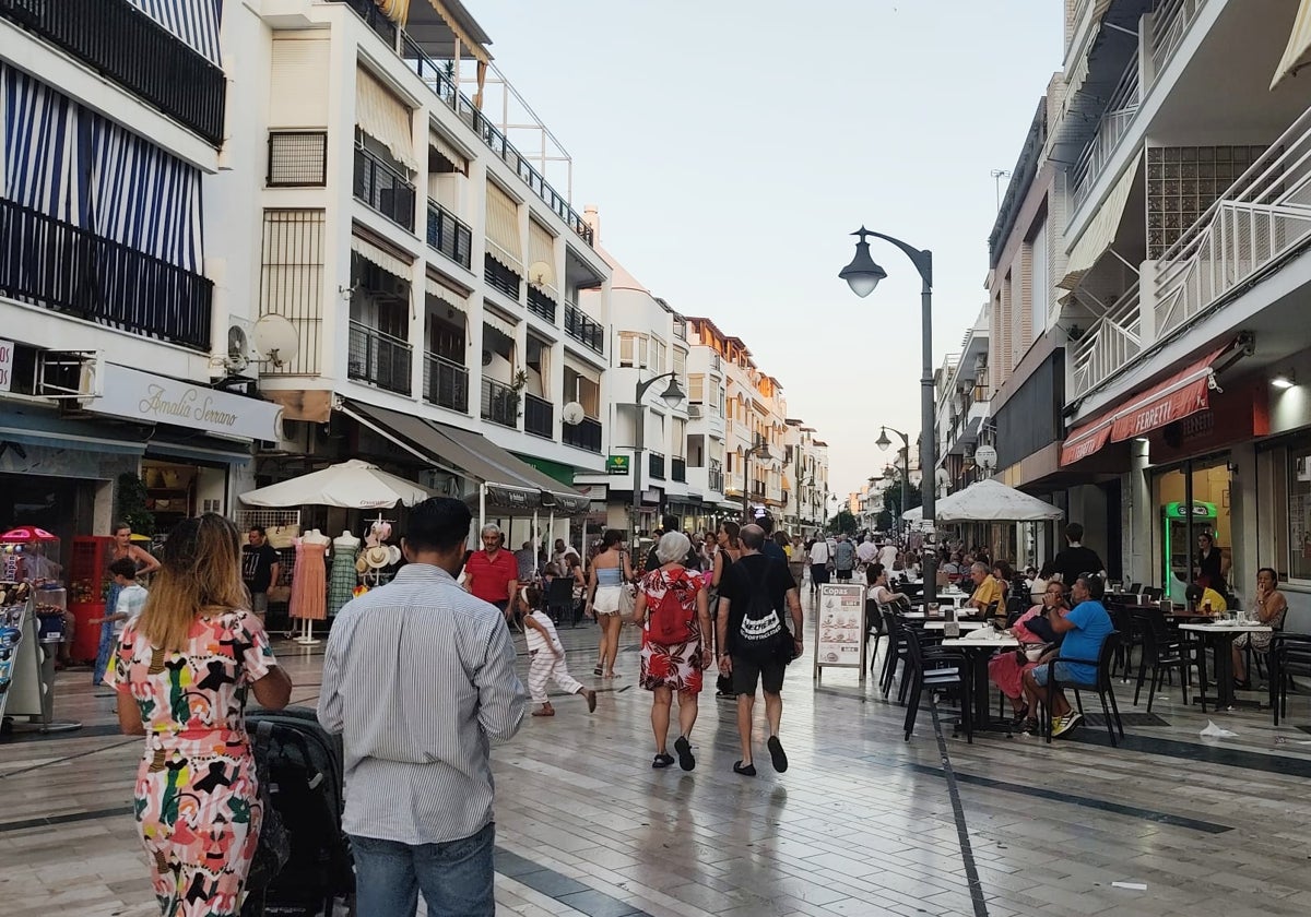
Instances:
[[[409,514],[409,563],[347,603],[324,659],[319,720],[346,751],[342,827],[359,917],[492,917],[489,748],[523,720],[527,692],[497,608],[456,586],[472,521],[434,496]]]

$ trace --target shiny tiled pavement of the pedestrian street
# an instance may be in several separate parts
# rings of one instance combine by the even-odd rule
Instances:
[[[595,629],[562,633],[574,673],[603,693],[591,717],[581,700],[556,700],[553,719],[530,719],[496,752],[501,913],[1311,913],[1306,694],[1274,728],[1266,713],[1184,710],[1167,689],[1154,706],[1163,724],[1126,724],[1118,749],[1095,727],[1045,745],[1004,735],[966,744],[947,726],[977,901],[927,706],[905,743],[901,707],[851,671],[829,669],[815,688],[808,655],[784,689],[787,774],[763,748],[759,777],[732,773],[734,707],[713,692],[692,735],[696,770],[657,772],[636,631],[624,631],[615,683],[586,675]],[[313,703],[323,646],[277,650],[294,698]],[[58,700],[59,715],[87,728],[0,743],[7,917],[156,913],[126,808],[139,740],[117,735],[111,700],[88,681],[66,673]],[[1117,694],[1133,711],[1131,685]],[[1238,736],[1201,739],[1207,719]]]

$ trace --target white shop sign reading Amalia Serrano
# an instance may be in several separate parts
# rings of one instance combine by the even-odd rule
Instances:
[[[105,364],[104,394],[87,407],[97,414],[224,436],[274,441],[282,436],[281,405],[113,363]]]

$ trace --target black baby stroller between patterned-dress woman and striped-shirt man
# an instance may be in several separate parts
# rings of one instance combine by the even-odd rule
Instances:
[[[308,707],[250,710],[246,731],[291,853],[266,887],[250,891],[241,917],[354,913],[354,859],[341,829],[341,738],[328,734]]]

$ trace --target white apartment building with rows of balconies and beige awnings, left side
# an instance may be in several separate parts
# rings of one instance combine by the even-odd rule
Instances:
[[[215,296],[233,329],[298,331],[258,367],[287,422],[260,474],[361,456],[482,493],[490,519],[578,514],[572,485],[604,472],[610,440],[610,267],[549,164],[485,111],[509,89],[468,10],[389,10],[405,18],[371,0],[224,8]]]

